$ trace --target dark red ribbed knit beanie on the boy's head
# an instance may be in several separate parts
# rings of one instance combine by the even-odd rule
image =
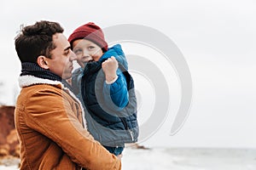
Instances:
[[[93,22],[89,22],[83,26],[79,26],[73,33],[68,37],[71,48],[73,49],[73,42],[77,39],[87,39],[91,42],[96,43],[103,52],[108,51],[108,43],[105,41],[102,29],[96,26]]]

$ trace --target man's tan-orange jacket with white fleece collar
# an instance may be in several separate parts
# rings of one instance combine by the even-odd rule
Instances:
[[[15,126],[21,170],[121,169],[119,159],[84,128],[79,100],[61,82],[32,76],[19,81]]]

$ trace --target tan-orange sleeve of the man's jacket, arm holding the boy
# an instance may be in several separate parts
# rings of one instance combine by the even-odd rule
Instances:
[[[63,92],[40,90],[26,101],[27,125],[58,144],[72,161],[86,169],[121,169],[119,159],[110,154],[79,122]]]

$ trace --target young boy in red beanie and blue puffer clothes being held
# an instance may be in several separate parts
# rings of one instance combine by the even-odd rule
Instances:
[[[81,68],[73,72],[72,86],[84,102],[87,127],[93,137],[118,156],[125,143],[137,142],[137,99],[119,44],[108,48],[102,29],[89,22],[68,38]]]

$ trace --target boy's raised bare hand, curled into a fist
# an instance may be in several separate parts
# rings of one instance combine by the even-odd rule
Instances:
[[[118,61],[113,56],[102,63],[102,70],[105,73],[107,82],[112,82],[117,77],[118,65]]]

